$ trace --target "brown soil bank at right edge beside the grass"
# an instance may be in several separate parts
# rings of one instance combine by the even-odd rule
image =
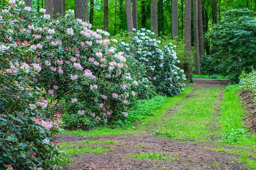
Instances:
[[[238,91],[238,94],[242,101],[243,109],[247,111],[244,114],[245,126],[256,131],[256,98],[253,96],[252,91]]]

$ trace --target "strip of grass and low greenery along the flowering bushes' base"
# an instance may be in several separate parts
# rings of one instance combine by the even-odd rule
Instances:
[[[175,105],[180,100],[184,99],[189,93],[193,91],[192,88],[186,88],[185,91],[180,93],[178,96],[165,97],[156,96],[150,100],[141,100],[138,105],[131,108],[128,116],[128,122],[131,124],[135,120],[141,120],[140,124],[144,122],[147,123],[149,120],[154,120],[155,117],[162,117],[166,109]],[[114,136],[114,135],[134,135],[138,133],[137,126],[132,124],[125,128],[115,128],[110,127],[99,127],[95,130],[63,130],[64,134],[78,135],[78,136]]]

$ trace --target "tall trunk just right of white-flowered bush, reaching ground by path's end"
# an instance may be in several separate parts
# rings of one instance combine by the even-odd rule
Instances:
[[[191,0],[185,0],[185,29],[184,29],[184,42],[186,55],[190,56],[191,52]],[[190,57],[191,58],[191,57]],[[189,82],[193,82],[192,79],[192,65],[191,60],[184,64],[184,71],[186,73]]]

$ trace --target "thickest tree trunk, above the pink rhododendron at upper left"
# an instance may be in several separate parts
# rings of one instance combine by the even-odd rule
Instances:
[[[88,0],[76,0],[76,17],[88,22],[89,20],[89,9]]]

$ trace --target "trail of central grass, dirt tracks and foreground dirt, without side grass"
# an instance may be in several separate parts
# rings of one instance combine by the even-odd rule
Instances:
[[[194,91],[176,103],[160,118],[151,119],[135,127],[133,135],[82,137],[58,135],[61,143],[83,145],[92,140],[107,152],[82,153],[72,156],[64,170],[244,170],[237,162],[238,155],[215,151],[220,136],[218,117],[226,82],[217,85],[213,80],[195,80]],[[217,82],[219,83],[219,82]],[[163,132],[162,136],[150,133]],[[169,137],[163,137],[167,134]],[[171,138],[170,138],[171,137]],[[103,144],[102,141],[113,141]],[[137,156],[157,155],[154,159]]]

